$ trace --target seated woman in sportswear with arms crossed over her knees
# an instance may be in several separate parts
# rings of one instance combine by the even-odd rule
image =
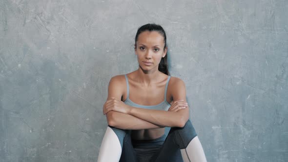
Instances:
[[[109,126],[98,162],[206,162],[189,121],[185,84],[169,76],[164,29],[141,26],[135,54],[139,68],[109,82],[103,105]],[[167,135],[165,127],[171,127]]]

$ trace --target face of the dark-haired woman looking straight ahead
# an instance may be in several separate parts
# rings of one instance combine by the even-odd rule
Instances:
[[[144,71],[158,70],[161,58],[167,52],[164,37],[157,31],[144,31],[138,36],[135,46],[139,66]]]

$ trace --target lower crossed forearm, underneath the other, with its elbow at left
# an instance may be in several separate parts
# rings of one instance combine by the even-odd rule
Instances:
[[[110,126],[119,129],[139,130],[164,128],[165,126],[155,125],[151,122],[144,121],[129,114],[123,114],[116,111],[109,111],[106,114],[107,122]]]

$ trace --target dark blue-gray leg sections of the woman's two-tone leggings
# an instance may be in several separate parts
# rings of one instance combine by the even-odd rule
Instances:
[[[111,128],[116,133],[122,147],[119,162],[138,162],[131,142],[130,130]],[[152,158],[147,159],[146,162],[183,162],[180,149],[185,149],[196,136],[197,134],[190,120],[182,128],[172,127],[160,150]]]

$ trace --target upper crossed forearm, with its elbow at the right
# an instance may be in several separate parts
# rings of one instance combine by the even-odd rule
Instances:
[[[188,107],[186,109],[188,109]],[[189,118],[189,114],[187,114],[187,112],[189,113],[189,111],[185,109],[173,112],[130,106],[130,111],[128,114],[156,125],[167,127],[183,127]]]

